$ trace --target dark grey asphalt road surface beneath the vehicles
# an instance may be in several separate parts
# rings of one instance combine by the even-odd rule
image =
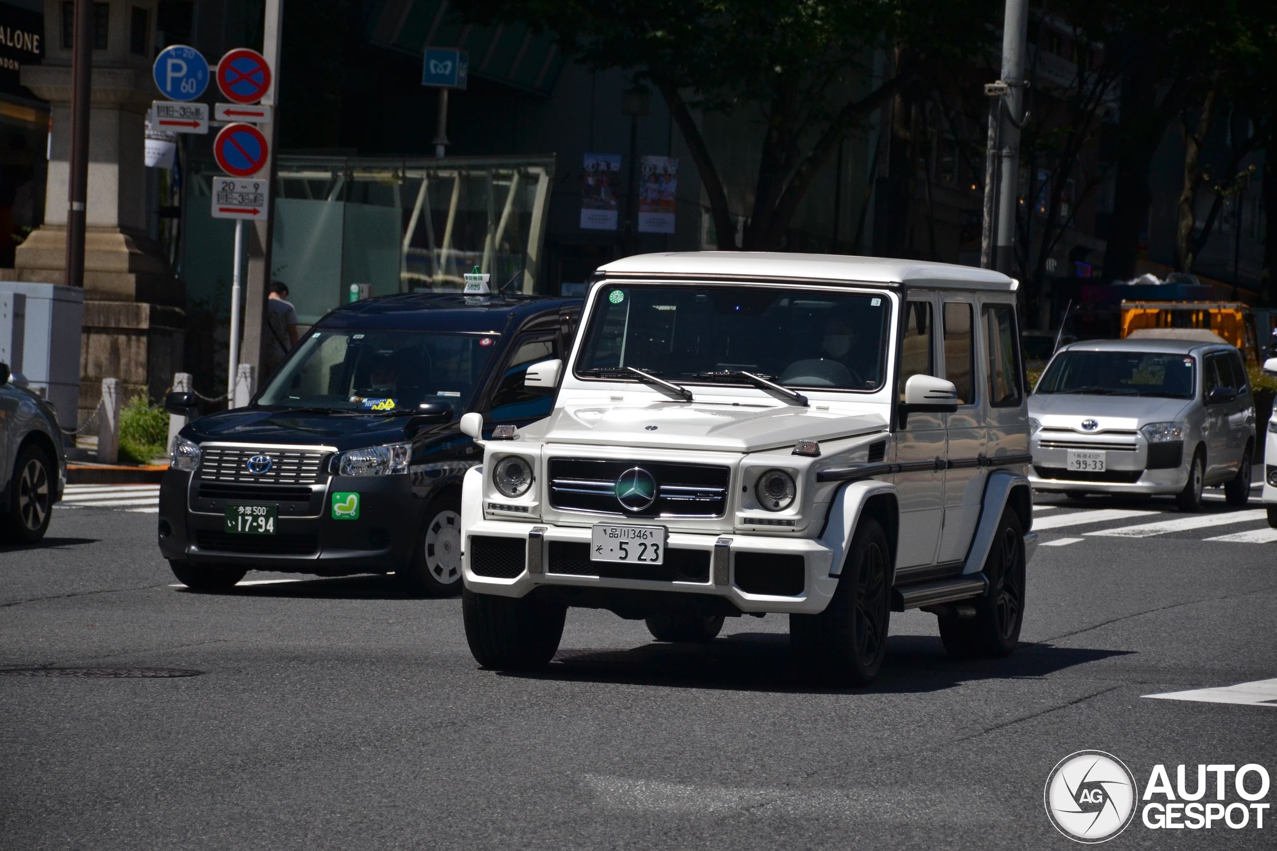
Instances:
[[[1144,697],[1277,677],[1267,524],[1213,500],[1208,527],[1091,535],[1184,515],[1042,503],[1077,515],[1043,541],[1075,540],[1031,563],[1020,649],[954,661],[932,616],[894,615],[859,690],[798,681],[778,615],[691,647],[572,610],[548,671],[485,671],[457,600],[372,577],[192,593],[153,514],[57,508],[42,546],[0,549],[0,669],[202,674],[0,676],[0,847],[1065,848],[1043,783],[1077,750],[1140,790],[1158,763],[1190,786],[1198,763],[1260,763],[1277,786],[1277,702]],[[1084,513],[1114,509],[1154,513]],[[1106,847],[1271,848],[1273,822],[1137,815]]]

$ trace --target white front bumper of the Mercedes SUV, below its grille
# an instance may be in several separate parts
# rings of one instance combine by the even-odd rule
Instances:
[[[506,538],[518,544],[508,547],[512,554],[508,569],[501,565],[495,568],[485,564],[481,570],[487,573],[502,573],[498,575],[480,575],[472,569],[471,556],[475,547],[475,537]],[[667,554],[670,551],[692,551],[695,561],[705,563],[707,559],[709,570],[706,581],[686,579],[636,579],[613,578],[598,575],[580,575],[557,573],[566,569],[567,564],[557,552],[563,547],[555,544],[576,545],[580,551],[581,545],[589,551],[590,527],[553,526],[549,523],[507,523],[502,521],[480,521],[467,527],[465,549],[462,551],[462,565],[465,570],[465,583],[471,591],[479,593],[497,595],[502,597],[522,597],[531,591],[558,586],[567,588],[598,588],[610,591],[635,592],[674,592],[687,595],[702,595],[722,597],[730,602],[742,612],[796,612],[819,614],[825,610],[838,588],[838,577],[829,575],[834,554],[820,544],[806,538],[766,537],[753,535],[691,535],[670,532],[667,541]],[[487,542],[485,542],[487,545]],[[742,559],[741,556],[744,556]],[[741,587],[753,584],[767,584],[765,575],[766,561],[751,556],[788,556],[785,564],[796,565],[794,558],[802,559],[802,589],[798,593],[751,593]],[[521,564],[517,559],[521,558]],[[667,556],[672,558],[672,556]],[[776,559],[778,565],[782,560]],[[614,563],[589,563],[614,564]],[[576,569],[581,570],[581,563],[576,563]],[[760,575],[760,565],[762,575]],[[738,568],[742,573],[738,574]],[[780,569],[779,566],[776,568]],[[746,582],[743,570],[750,572]],[[797,584],[790,591],[797,589]]]

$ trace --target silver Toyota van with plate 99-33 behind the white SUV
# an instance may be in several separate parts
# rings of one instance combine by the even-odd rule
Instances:
[[[1029,427],[1037,490],[1174,494],[1185,512],[1208,485],[1231,505],[1250,496],[1255,403],[1241,353],[1222,341],[1065,346],[1029,397]]]

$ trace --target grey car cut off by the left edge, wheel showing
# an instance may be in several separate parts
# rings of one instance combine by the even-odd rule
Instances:
[[[66,487],[57,412],[31,390],[9,383],[0,364],[0,535],[6,542],[45,537],[54,503]]]

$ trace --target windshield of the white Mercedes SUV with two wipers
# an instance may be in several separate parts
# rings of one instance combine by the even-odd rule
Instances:
[[[681,384],[752,373],[787,387],[877,390],[889,318],[889,299],[873,293],[609,286],[595,302],[576,373],[632,366]]]

